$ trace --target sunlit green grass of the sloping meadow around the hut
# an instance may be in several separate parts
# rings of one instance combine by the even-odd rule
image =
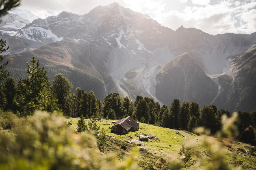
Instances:
[[[71,119],[66,119],[66,121],[70,120]],[[88,120],[89,119],[85,119],[86,123],[88,123]],[[112,139],[108,140],[108,145],[113,145],[112,149],[108,150],[116,153],[120,159],[123,157],[123,155],[129,154],[132,151],[132,147],[138,147],[138,149],[140,148],[139,146],[132,146],[126,144],[127,140],[131,140],[131,138],[128,136],[131,136],[132,139],[139,140],[138,134],[152,134],[159,138],[159,140],[150,140],[149,142],[144,142],[145,146],[142,146],[147,150],[149,155],[152,155],[154,157],[160,157],[161,155],[165,155],[165,157],[167,158],[176,159],[178,157],[178,153],[180,151],[180,148],[182,147],[182,144],[184,142],[189,142],[193,140],[197,144],[197,146],[192,149],[193,160],[196,160],[199,157],[206,160],[210,159],[210,157],[206,155],[206,153],[208,153],[206,148],[204,147],[204,145],[202,145],[202,140],[206,137],[204,135],[197,136],[195,134],[189,133],[188,131],[173,130],[154,125],[148,125],[145,123],[140,123],[139,130],[136,132],[129,132],[128,134],[125,135],[117,135],[111,133],[111,129],[108,128],[113,126],[113,123],[111,123],[112,121],[114,120],[102,119],[101,121],[98,121],[98,125],[100,127],[104,127],[104,129],[106,130],[106,134],[113,135],[115,138],[119,139],[113,139],[114,141]],[[70,128],[76,131],[77,123],[78,119],[72,118],[72,125],[70,126]],[[176,134],[176,132],[180,132],[181,135],[184,135],[186,137],[180,136],[179,134]],[[123,139],[126,140],[124,141]],[[117,142],[119,142],[120,144],[117,144]],[[122,149],[120,150],[120,147],[121,145],[123,146],[124,144],[128,146],[128,149],[122,151]],[[252,148],[254,147],[251,147],[248,144],[244,144],[241,142],[239,142],[239,144],[229,144],[229,146],[224,146],[223,143],[221,142],[219,142],[219,144],[222,144],[226,152],[226,160],[228,163],[233,164],[235,166],[241,166],[241,168],[244,169],[256,169],[256,156],[248,154],[249,151],[252,150]],[[237,154],[236,151],[238,150],[238,148],[244,149],[247,153],[242,153],[240,151],[240,154]],[[245,155],[245,157],[243,157],[243,155]],[[242,164],[239,164],[240,161],[243,161]]]

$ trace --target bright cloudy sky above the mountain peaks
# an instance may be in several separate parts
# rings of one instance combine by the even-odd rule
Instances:
[[[256,32],[256,0],[21,0],[11,13],[32,22],[62,11],[85,14],[113,2],[148,14],[173,30],[183,25],[213,35]]]

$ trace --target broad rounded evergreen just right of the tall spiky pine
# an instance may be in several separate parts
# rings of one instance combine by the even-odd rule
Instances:
[[[69,79],[63,77],[62,74],[56,74],[53,81],[53,90],[56,98],[58,99],[58,104],[64,106],[67,96],[71,94],[72,88],[73,85]]]

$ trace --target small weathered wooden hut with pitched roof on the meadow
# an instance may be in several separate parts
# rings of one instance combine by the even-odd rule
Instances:
[[[136,130],[139,130],[139,123],[130,116],[120,119],[112,126],[112,131],[116,134],[126,134],[130,131]]]

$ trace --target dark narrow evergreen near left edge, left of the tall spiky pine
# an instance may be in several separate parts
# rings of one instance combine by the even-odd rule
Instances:
[[[16,95],[17,85],[13,78],[7,78],[5,82],[5,94],[7,99],[7,109],[15,109],[14,98]]]

